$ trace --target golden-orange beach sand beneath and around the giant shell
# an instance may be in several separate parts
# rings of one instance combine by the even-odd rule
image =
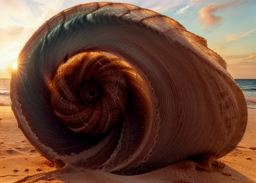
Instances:
[[[74,172],[66,167],[56,170],[21,133],[11,107],[0,106],[0,183],[256,182],[256,110],[248,109],[248,114],[242,141],[235,150],[221,158],[223,163],[210,167],[212,172],[197,170],[194,162],[182,162],[143,175],[119,176],[107,172]]]

